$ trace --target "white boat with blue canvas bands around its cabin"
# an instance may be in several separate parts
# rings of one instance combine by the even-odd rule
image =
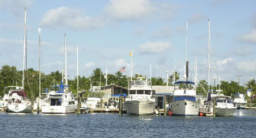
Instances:
[[[176,116],[198,116],[199,101],[195,93],[195,83],[178,81],[174,83],[174,97],[170,110]]]

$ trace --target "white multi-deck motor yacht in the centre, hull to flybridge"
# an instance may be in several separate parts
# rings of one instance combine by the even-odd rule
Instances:
[[[127,114],[147,115],[155,113],[155,98],[152,96],[151,81],[130,81],[128,97],[125,100]]]

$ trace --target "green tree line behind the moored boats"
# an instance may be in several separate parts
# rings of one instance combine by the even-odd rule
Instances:
[[[89,77],[85,76],[78,76],[79,81],[79,90],[89,90],[91,82],[100,82],[101,86],[106,85],[106,74],[103,74],[100,68],[96,68],[93,70],[93,73]],[[135,74],[132,78],[135,80],[138,75]],[[39,71],[33,70],[33,68],[28,68],[25,71],[25,83],[24,83],[24,90],[27,92],[28,97],[31,100],[34,100],[39,95]],[[146,76],[145,76],[146,78]],[[175,79],[174,79],[175,78]],[[149,78],[147,78],[149,80]],[[123,87],[129,87],[129,76],[124,75],[122,72],[115,72],[115,74],[107,74],[107,85],[115,84]],[[173,72],[168,77],[168,85],[173,85],[175,81],[179,81],[179,73]],[[62,72],[55,71],[51,72],[50,74],[41,75],[41,87],[42,93],[45,92],[46,88],[54,85],[60,85],[62,81]],[[153,86],[166,86],[166,80],[164,78],[153,77],[151,78]],[[70,86],[69,90],[73,91],[74,94],[77,93],[77,78],[73,80],[68,80],[68,84]],[[220,85],[212,86],[210,85],[210,89],[218,90],[219,87],[223,90],[224,95],[231,95],[234,93],[246,93],[247,89],[252,89],[252,92],[255,94],[256,91],[256,82],[255,79],[250,79],[244,86],[239,86],[237,82],[231,81],[221,81]],[[15,66],[2,66],[0,70],[0,96],[3,97],[5,87],[7,86],[22,86],[22,71],[18,71]],[[208,92],[208,83],[203,80],[199,81],[197,86],[197,93],[206,95]],[[7,92],[6,92],[7,93]]]

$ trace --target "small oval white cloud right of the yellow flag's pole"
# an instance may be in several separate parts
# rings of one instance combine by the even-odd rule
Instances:
[[[148,42],[138,46],[141,53],[159,53],[164,52],[165,50],[171,47],[172,43],[162,41]]]

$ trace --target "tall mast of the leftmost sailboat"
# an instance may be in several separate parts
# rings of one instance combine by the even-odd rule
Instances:
[[[25,66],[25,58],[27,61],[27,9],[25,8],[25,21],[24,21],[24,45],[23,45],[23,70],[22,70],[22,89],[24,89],[24,66]],[[27,62],[26,62],[27,67]]]

